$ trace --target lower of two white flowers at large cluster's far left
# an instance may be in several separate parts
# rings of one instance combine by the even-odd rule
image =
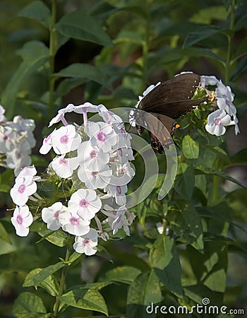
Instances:
[[[28,236],[32,220],[32,213],[30,213],[28,206],[16,206],[11,218],[11,223],[16,228],[16,234],[18,236]]]

